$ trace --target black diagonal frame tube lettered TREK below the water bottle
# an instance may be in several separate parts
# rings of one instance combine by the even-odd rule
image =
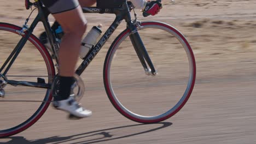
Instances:
[[[83,71],[88,67],[92,59],[97,55],[97,53],[101,50],[102,46],[106,43],[106,41],[109,39],[109,37],[113,34],[115,29],[119,26],[123,19],[120,17],[116,17],[115,21],[110,25],[110,27],[107,29],[106,33],[101,37],[101,39],[98,41],[98,43],[95,45],[95,47],[90,50],[90,53],[86,55],[86,58],[84,61],[79,65],[78,69],[75,71],[76,74],[81,75]]]

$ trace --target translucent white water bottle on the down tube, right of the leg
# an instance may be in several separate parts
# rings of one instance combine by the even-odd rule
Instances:
[[[86,37],[82,40],[82,46],[79,53],[80,58],[84,58],[87,53],[94,47],[94,45],[97,42],[98,37],[100,37],[102,31],[101,31],[102,25],[98,25],[97,27],[94,26],[91,28],[91,30],[88,32]]]

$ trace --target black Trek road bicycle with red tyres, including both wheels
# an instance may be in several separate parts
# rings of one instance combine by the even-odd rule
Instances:
[[[13,111],[11,111],[13,109],[5,108],[8,106],[8,102],[15,101],[20,104],[19,110],[15,110],[15,115],[18,115],[19,118],[12,118],[12,121],[14,122],[11,124],[11,126],[9,125],[11,123],[10,121],[8,122],[8,125],[2,125],[0,128],[0,137],[15,135],[27,129],[28,127],[31,127],[31,125],[36,123],[38,119],[44,114],[49,104],[51,103],[51,99],[53,98],[51,93],[51,85],[58,68],[58,58],[56,53],[59,49],[59,40],[56,38],[56,33],[50,28],[50,23],[48,22],[48,15],[50,13],[43,6],[40,0],[36,0],[34,3],[30,2],[29,0],[25,0],[25,3],[26,9],[30,9],[32,6],[38,9],[38,15],[31,23],[30,27],[27,26],[29,17],[25,21],[25,25],[23,27],[11,25],[9,23],[0,23],[0,42],[2,45],[4,45],[1,46],[0,49],[3,51],[3,53],[1,53],[2,56],[0,62],[2,62],[2,59],[6,59],[3,64],[1,63],[2,66],[0,68],[0,95],[2,97],[0,99],[0,106],[2,106],[2,108],[0,107],[1,119],[3,121],[8,121],[9,118],[13,117],[13,115],[10,116],[13,114]],[[113,34],[121,21],[125,20],[127,23],[126,29],[121,32],[117,38],[115,38],[112,45],[109,47],[104,61],[104,87],[110,102],[113,104],[115,109],[121,113],[121,115],[138,123],[157,123],[175,115],[188,101],[195,84],[195,58],[188,41],[176,28],[163,22],[139,22],[137,20],[136,14],[135,20],[132,20],[130,13],[132,9],[133,5],[126,1],[120,7],[114,9],[100,9],[97,7],[83,8],[84,13],[107,13],[115,14],[116,17],[112,25],[109,26],[100,40],[98,40],[98,43],[89,51],[88,55],[86,55],[86,57],[83,59],[83,62],[75,71],[77,74],[75,76],[75,87],[78,89],[78,96],[76,98],[79,100],[83,96],[84,92],[84,85],[83,82],[81,82],[79,75],[81,75],[86,67],[88,67],[92,59],[94,59],[97,53],[101,50],[102,46]],[[53,57],[55,60],[53,60],[53,57],[50,55],[50,52],[45,48],[45,46],[40,43],[39,39],[32,34],[38,22],[42,22],[44,25],[45,31],[48,34],[49,41],[53,49]],[[143,37],[140,35],[143,35]],[[144,38],[145,35],[148,37]],[[158,36],[154,37],[155,35]],[[145,39],[148,41],[147,44],[143,44],[143,40]],[[9,49],[11,46],[13,46],[13,42],[10,42],[10,40],[19,41],[18,44],[15,44],[16,46],[14,49]],[[167,40],[167,42],[162,43],[162,40]],[[155,43],[158,41],[161,42],[161,46],[155,45]],[[151,49],[150,46],[154,46],[153,49]],[[36,49],[34,49],[35,47]],[[184,51],[181,52],[181,48]],[[21,50],[24,54],[21,53]],[[10,55],[6,55],[8,52],[10,52]],[[182,54],[182,58],[180,56],[176,56],[183,52],[184,55]],[[32,55],[28,55],[28,53],[32,53]],[[160,54],[164,55],[159,56]],[[171,60],[170,56],[172,56],[173,63],[168,62],[168,60]],[[153,59],[153,57],[155,58]],[[36,59],[32,61],[32,58]],[[156,60],[161,58],[162,60],[160,61],[159,66],[156,67],[155,65],[158,62]],[[19,62],[21,63],[19,64]],[[174,62],[178,63],[175,65]],[[127,67],[125,64],[131,64],[131,66]],[[174,64],[174,69],[176,72],[164,73],[164,70],[169,69],[172,64]],[[181,67],[183,64],[187,65],[186,69],[185,66]],[[178,68],[181,68],[181,70],[178,71]],[[114,73],[114,70],[118,70],[118,72]],[[124,71],[120,73],[122,70]],[[131,72],[129,72],[129,70],[131,70]],[[185,76],[179,76],[179,74],[183,74],[183,70],[186,70],[186,72],[184,72]],[[21,74],[26,73],[26,75],[16,75],[17,71],[19,71]],[[146,73],[146,75],[143,73]],[[15,80],[10,80],[9,77],[15,77]],[[148,80],[148,77],[150,80]],[[35,80],[34,78],[37,79]],[[147,81],[144,82],[146,79]],[[181,81],[177,82],[176,80]],[[183,84],[184,86],[181,86]],[[14,89],[13,86],[19,87]],[[166,103],[168,106],[171,102],[173,102],[174,105],[171,108],[168,108],[168,110],[161,110],[160,114],[158,113],[156,115],[150,114],[153,116],[144,116],[138,114],[142,112],[149,112],[148,109],[141,108],[143,102],[146,101],[145,105],[148,104],[150,105],[149,107],[153,106],[154,104],[158,104],[152,103],[152,100],[151,102],[147,101],[149,97],[155,97],[154,93],[151,94],[149,91],[154,92],[155,90],[159,90],[158,86],[161,88],[161,93],[158,93],[158,97],[160,97],[160,94],[170,94],[170,92],[167,91],[173,87],[177,88],[177,90],[183,88],[184,89],[180,93],[173,93],[173,95],[178,95],[176,100],[171,101],[169,98],[166,98],[162,101],[159,101],[159,103],[162,102],[161,105]],[[25,88],[25,90],[22,91],[22,88]],[[130,88],[129,92],[127,92],[128,88]],[[146,88],[148,89],[146,90]],[[5,91],[8,91],[7,97],[4,97]],[[24,92],[25,96],[22,95]],[[117,94],[119,92],[120,94]],[[132,106],[127,109],[129,104],[124,102],[127,100],[127,96],[130,98],[133,97],[133,95],[136,95],[130,94],[131,92],[139,92],[137,96],[147,94],[147,97],[139,99],[136,96],[136,99],[132,103],[138,103],[138,106]],[[10,97],[11,94],[14,96]],[[19,94],[21,95],[18,98],[22,97],[22,100],[16,100],[16,95]],[[36,97],[34,94],[36,94]],[[42,96],[39,97],[41,94]],[[180,94],[182,95],[181,98],[179,98]],[[33,95],[34,97],[30,97],[30,95]],[[124,100],[123,98],[117,97],[118,95],[120,97],[124,95]],[[33,98],[33,100],[31,100],[31,98]],[[176,98],[176,96],[173,96],[172,98]],[[158,102],[156,100],[153,100],[153,102]],[[32,102],[33,104],[22,103],[24,101]],[[38,105],[39,103],[41,104]],[[160,111],[159,106],[160,105],[156,106],[157,112]],[[38,108],[36,108],[36,112],[29,112],[30,110],[34,110],[31,107]],[[5,110],[8,110],[9,112],[4,112]],[[132,112],[133,110],[138,110],[139,112],[134,113]],[[28,114],[25,116],[19,116],[19,111],[25,111],[28,112]],[[4,115],[7,116],[4,117]]]

